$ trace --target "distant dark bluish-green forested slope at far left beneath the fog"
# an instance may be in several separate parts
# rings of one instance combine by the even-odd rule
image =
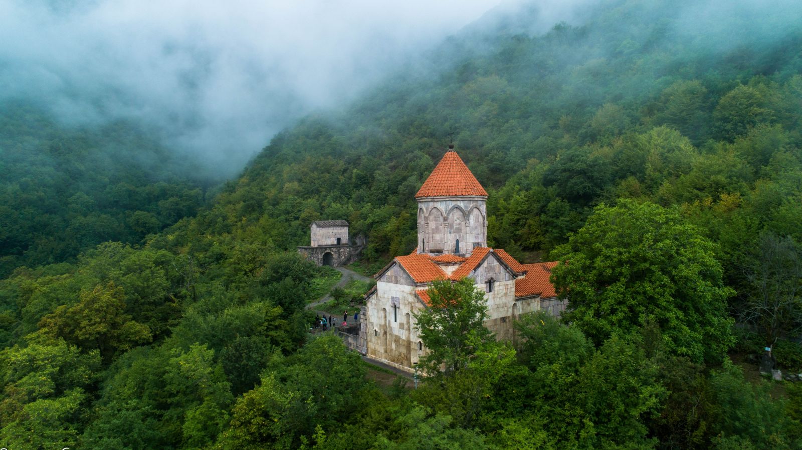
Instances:
[[[194,215],[208,184],[131,123],[70,127],[31,102],[0,105],[0,150],[2,277],[139,243]]]

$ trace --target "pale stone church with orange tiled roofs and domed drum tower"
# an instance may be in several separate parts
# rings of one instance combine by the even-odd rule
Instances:
[[[427,307],[427,289],[435,279],[473,279],[488,299],[485,326],[503,340],[512,339],[518,315],[538,310],[559,315],[567,303],[557,299],[549,282],[557,263],[521,264],[487,246],[488,193],[453,146],[449,149],[415,194],[418,247],[374,275],[376,286],[365,295],[360,347],[410,371],[426,352],[412,313]]]

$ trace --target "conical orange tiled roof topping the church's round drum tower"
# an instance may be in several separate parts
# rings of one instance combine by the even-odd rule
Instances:
[[[450,195],[482,195],[488,192],[462,162],[456,151],[447,151],[434,171],[415,194],[419,197],[445,197]]]

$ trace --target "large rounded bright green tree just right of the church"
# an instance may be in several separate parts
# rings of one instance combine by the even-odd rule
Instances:
[[[553,256],[552,280],[569,299],[567,322],[597,345],[654,321],[666,349],[715,362],[733,342],[715,246],[680,217],[653,203],[622,200],[596,207]]]

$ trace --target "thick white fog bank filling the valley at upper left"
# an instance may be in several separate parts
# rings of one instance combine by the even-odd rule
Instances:
[[[499,2],[0,2],[0,100],[67,124],[133,120],[232,175]]]

